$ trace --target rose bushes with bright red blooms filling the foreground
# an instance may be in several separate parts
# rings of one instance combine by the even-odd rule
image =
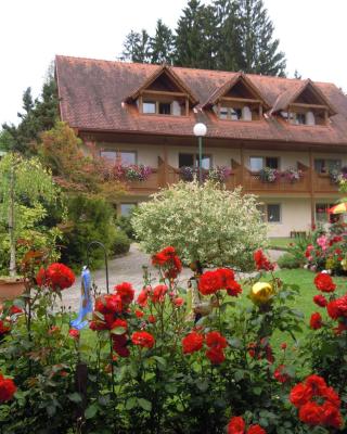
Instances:
[[[30,252],[26,292],[0,317],[1,433],[344,432],[347,295],[329,275],[316,277],[314,302],[330,319],[314,314],[299,346],[305,322],[291,307],[299,288],[282,282],[260,250],[254,258],[259,272],[242,286],[218,268],[184,289],[168,246],[152,259],[159,282],[145,273],[137,295],[127,282],[95,292],[91,330],[79,333],[56,309],[74,275]]]

